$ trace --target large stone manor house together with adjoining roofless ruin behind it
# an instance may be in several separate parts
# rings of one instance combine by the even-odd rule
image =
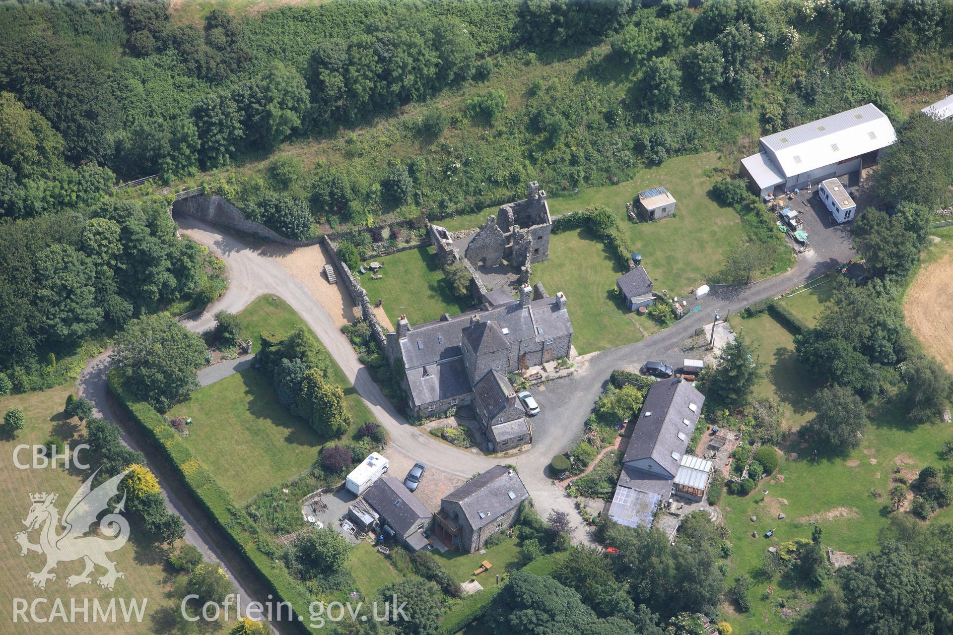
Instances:
[[[529,227],[521,229],[520,223]],[[462,259],[477,279],[476,288],[481,288],[476,267],[497,267],[508,260],[520,271],[519,298],[506,288],[480,292],[475,310],[413,327],[401,316],[395,332],[386,335],[388,358],[404,368],[403,384],[415,415],[434,416],[469,405],[490,449],[532,441],[532,427],[507,374],[569,357],[573,346],[566,296],[559,292],[550,297],[541,285],[528,284],[530,263],[549,257],[551,228],[546,192],[531,183],[529,197],[501,206],[499,220],[490,217]],[[451,247],[452,234],[434,226],[431,232],[438,257],[460,258]]]

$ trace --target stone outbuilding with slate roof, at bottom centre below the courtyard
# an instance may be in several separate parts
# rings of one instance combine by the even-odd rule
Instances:
[[[529,497],[517,470],[493,466],[440,501],[434,534],[447,546],[473,553],[492,534],[516,525],[519,506]]]

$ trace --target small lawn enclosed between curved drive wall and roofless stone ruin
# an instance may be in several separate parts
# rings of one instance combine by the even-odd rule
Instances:
[[[406,314],[412,325],[439,319],[443,313],[456,315],[473,303],[460,299],[450,290],[443,271],[437,266],[432,248],[400,251],[375,258],[384,265],[380,280],[372,280],[370,272],[359,276],[360,285],[372,303],[384,300],[384,312],[391,324]]]

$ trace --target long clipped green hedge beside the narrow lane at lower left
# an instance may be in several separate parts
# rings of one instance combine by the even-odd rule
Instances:
[[[132,423],[139,427],[153,449],[157,449],[176,467],[182,483],[217,524],[219,531],[245,556],[248,566],[274,595],[274,601],[289,603],[298,615],[309,615],[311,595],[284,566],[275,563],[255,545],[258,531],[248,515],[234,505],[228,490],[215,481],[208,468],[193,456],[189,446],[166,425],[152,406],[137,400],[123,389],[122,379],[114,370],[110,372],[109,384],[112,394],[126,408]],[[292,624],[283,622],[282,627],[295,630]],[[308,630],[305,623],[297,624],[304,631]]]

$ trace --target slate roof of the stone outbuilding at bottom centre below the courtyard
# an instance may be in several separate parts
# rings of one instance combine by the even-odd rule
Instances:
[[[529,497],[517,470],[507,466],[493,466],[474,480],[457,487],[443,497],[443,500],[458,503],[465,517],[461,521],[478,529],[489,525]]]

